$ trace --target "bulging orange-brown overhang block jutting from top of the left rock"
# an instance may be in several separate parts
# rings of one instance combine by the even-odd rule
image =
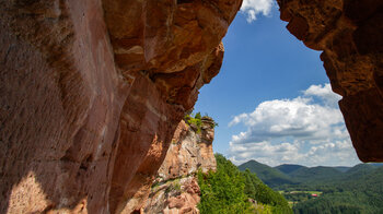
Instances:
[[[222,37],[241,0],[103,0],[117,67],[143,71],[186,110],[221,66]]]

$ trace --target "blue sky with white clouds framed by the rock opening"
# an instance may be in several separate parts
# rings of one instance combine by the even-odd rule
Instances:
[[[220,73],[195,111],[218,123],[214,152],[235,164],[352,166],[359,162],[320,51],[286,29],[270,0],[245,0],[223,39]]]

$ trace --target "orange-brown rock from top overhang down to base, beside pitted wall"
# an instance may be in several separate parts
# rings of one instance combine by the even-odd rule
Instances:
[[[135,80],[121,112],[109,192],[111,212],[130,213],[142,206],[198,90],[218,74],[221,39],[241,1],[104,0],[103,5],[117,69]]]

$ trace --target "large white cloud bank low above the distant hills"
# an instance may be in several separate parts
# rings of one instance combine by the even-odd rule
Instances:
[[[235,116],[229,126],[246,131],[232,136],[230,158],[241,164],[257,159],[269,165],[353,165],[351,146],[329,84],[312,85],[303,96],[259,104],[253,112]]]

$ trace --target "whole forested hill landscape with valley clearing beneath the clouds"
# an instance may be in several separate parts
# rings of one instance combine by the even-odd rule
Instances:
[[[279,190],[293,204],[294,213],[383,214],[382,164],[359,164],[353,167],[269,167],[251,160],[239,168],[248,168],[264,178],[264,182]],[[278,179],[279,175],[282,176]],[[281,182],[283,180],[288,182]]]

